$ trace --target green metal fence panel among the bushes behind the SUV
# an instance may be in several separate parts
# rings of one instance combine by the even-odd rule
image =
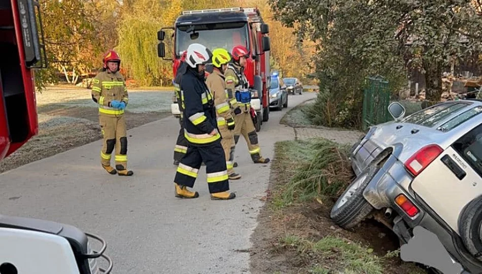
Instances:
[[[368,78],[366,84],[363,92],[363,130],[371,125],[385,123],[392,119],[388,112],[390,105],[388,81],[381,76],[375,76]]]

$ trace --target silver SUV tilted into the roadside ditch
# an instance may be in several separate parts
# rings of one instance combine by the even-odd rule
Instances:
[[[331,218],[352,228],[382,213],[402,244],[421,226],[453,261],[482,273],[482,100],[446,101],[372,126],[350,152],[356,178]],[[464,272],[466,273],[466,272]]]

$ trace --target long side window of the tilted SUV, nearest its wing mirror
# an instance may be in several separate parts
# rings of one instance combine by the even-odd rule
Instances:
[[[459,102],[433,106],[431,108],[427,108],[418,113],[415,113],[411,116],[408,116],[406,119],[403,120],[403,122],[432,127],[443,118],[464,107],[467,107],[467,104]]]

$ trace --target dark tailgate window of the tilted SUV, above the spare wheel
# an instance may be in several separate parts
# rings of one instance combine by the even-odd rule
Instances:
[[[482,176],[482,124],[462,136],[452,147]]]

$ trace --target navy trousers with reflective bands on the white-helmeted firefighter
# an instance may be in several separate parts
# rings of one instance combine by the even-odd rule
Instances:
[[[204,147],[188,146],[186,155],[179,163],[174,182],[192,188],[202,162],[206,164],[209,193],[228,191],[228,172],[220,142]]]

